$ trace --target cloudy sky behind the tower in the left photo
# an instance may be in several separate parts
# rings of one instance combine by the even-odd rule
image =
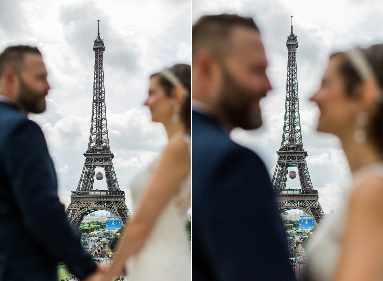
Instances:
[[[29,117],[43,129],[56,166],[59,196],[67,207],[89,139],[97,20],[105,44],[110,147],[130,210],[132,177],[166,142],[164,128],[151,122],[143,106],[149,75],[175,63],[191,63],[191,1],[0,1],[0,51],[28,44],[43,54],[52,89],[47,111]],[[93,188],[106,189],[105,178],[95,180]]]

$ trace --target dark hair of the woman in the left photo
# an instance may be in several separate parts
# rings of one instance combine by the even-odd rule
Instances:
[[[186,89],[185,102],[183,103],[180,113],[183,121],[185,122],[187,133],[191,134],[191,66],[189,64],[175,64],[168,69],[170,69],[170,71],[177,76]],[[152,74],[150,78],[157,75],[159,75],[159,84],[165,89],[166,95],[171,97],[174,85],[160,72]]]

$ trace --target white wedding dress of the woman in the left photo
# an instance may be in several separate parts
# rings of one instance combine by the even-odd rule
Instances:
[[[181,137],[181,136],[179,136]],[[190,136],[182,136],[190,151]],[[147,183],[161,155],[131,183],[133,207],[137,210]],[[190,281],[191,252],[185,230],[191,204],[191,174],[180,184],[162,211],[142,248],[126,263],[129,281]]]

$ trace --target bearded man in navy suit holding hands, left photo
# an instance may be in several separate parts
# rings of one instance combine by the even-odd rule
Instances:
[[[37,48],[0,54],[0,280],[57,281],[58,261],[80,279],[99,270],[69,226],[43,132],[27,119],[50,86]]]

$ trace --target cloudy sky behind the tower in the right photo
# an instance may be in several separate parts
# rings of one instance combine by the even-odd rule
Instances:
[[[296,53],[300,117],[304,149],[313,187],[319,190],[319,203],[325,213],[337,210],[342,193],[350,182],[350,170],[339,141],[316,132],[318,107],[309,98],[319,87],[328,57],[335,51],[383,42],[383,2],[372,0],[193,0],[192,21],[201,15],[239,13],[251,16],[259,26],[273,90],[262,101],[264,125],[255,131],[236,129],[231,136],[253,149],[264,160],[272,177],[280,148],[285,106],[287,48],[294,16],[298,36]],[[290,168],[296,171],[296,167]],[[299,187],[298,177],[286,187]]]

